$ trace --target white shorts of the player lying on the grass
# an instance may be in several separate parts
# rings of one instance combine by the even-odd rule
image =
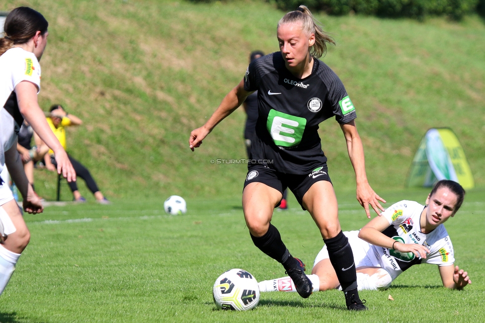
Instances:
[[[359,231],[344,231],[343,234],[348,238],[352,253],[354,254],[355,268],[359,267],[382,267],[379,259],[374,254],[371,245],[358,237]],[[326,245],[317,254],[313,266],[323,260],[328,259],[328,250]]]

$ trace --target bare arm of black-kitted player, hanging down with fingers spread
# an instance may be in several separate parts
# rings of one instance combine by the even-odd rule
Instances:
[[[352,167],[355,172],[355,180],[357,183],[357,200],[365,210],[367,218],[371,218],[369,212],[369,205],[374,211],[381,215],[384,208],[379,201],[386,203],[386,201],[377,195],[367,181],[367,175],[365,173],[365,161],[364,161],[364,148],[362,146],[362,140],[355,126],[355,121],[352,120],[346,124],[340,125],[345,141],[347,142],[347,152],[352,163]]]

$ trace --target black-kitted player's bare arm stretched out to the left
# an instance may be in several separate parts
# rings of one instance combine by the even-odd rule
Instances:
[[[224,120],[228,115],[233,113],[251,94],[244,90],[244,80],[242,80],[236,87],[234,87],[222,100],[219,107],[214,111],[212,116],[200,128],[192,130],[189,137],[189,148],[194,151],[195,148],[200,147],[202,140],[214,129],[219,122]]]

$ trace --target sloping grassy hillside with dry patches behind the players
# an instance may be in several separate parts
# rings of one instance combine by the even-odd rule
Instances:
[[[245,157],[243,111],[224,120],[195,153],[188,135],[242,79],[251,50],[278,50],[275,28],[283,12],[253,1],[155,0],[6,0],[0,10],[25,4],[50,23],[40,103],[45,109],[62,103],[84,120],[68,130],[69,150],[108,196],[239,194],[245,166],[210,160]],[[323,61],[357,108],[374,188],[404,187],[430,127],[457,133],[483,187],[483,21],[317,17],[337,42]],[[334,120],[322,124],[321,137],[336,189],[353,189]],[[40,193],[53,197],[55,176],[37,176]]]

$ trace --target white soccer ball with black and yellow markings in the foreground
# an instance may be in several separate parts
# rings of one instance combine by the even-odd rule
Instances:
[[[259,287],[247,271],[231,269],[217,278],[212,295],[219,310],[246,311],[258,304]]]

